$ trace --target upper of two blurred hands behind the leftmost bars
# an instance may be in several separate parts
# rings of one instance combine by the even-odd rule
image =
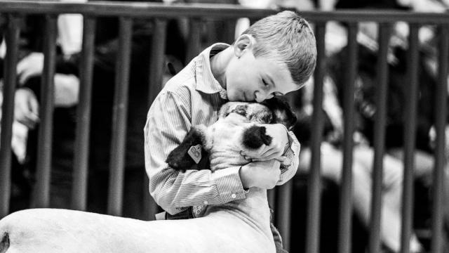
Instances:
[[[41,75],[43,72],[43,53],[30,53],[20,60],[17,65],[19,84],[25,84],[31,77]]]

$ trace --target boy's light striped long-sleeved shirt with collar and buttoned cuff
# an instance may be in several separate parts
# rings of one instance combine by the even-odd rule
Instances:
[[[210,126],[218,110],[227,102],[226,90],[210,69],[210,53],[229,45],[213,44],[170,79],[155,98],[145,125],[145,167],[149,176],[149,193],[169,214],[188,207],[196,210],[205,205],[221,205],[246,196],[239,176],[240,167],[217,171],[210,169],[176,171],[166,164],[168,153],[175,149],[194,125]],[[300,143],[289,133],[288,161],[281,165],[278,185],[291,179],[297,170]],[[289,164],[288,166],[285,164]]]

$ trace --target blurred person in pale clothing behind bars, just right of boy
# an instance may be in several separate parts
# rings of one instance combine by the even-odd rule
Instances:
[[[302,144],[300,166],[298,171],[307,173],[310,168],[311,150],[310,138],[313,126],[314,82],[312,79],[298,92],[295,100],[295,110],[298,117],[293,131]],[[323,143],[321,143],[321,175],[340,185],[342,176],[343,151],[343,110],[337,98],[337,87],[329,76],[323,83],[323,113],[325,125],[323,128]],[[366,228],[370,224],[370,205],[373,189],[373,157],[374,150],[361,138],[360,133],[354,133],[353,153],[353,199],[354,210]],[[382,218],[380,237],[384,252],[398,252],[401,246],[401,195],[403,183],[403,164],[395,157],[384,156],[384,174],[382,179]],[[410,240],[410,252],[421,252],[422,245],[416,235]]]

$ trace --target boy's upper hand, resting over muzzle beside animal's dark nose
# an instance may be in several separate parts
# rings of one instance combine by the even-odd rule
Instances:
[[[288,133],[283,124],[263,124],[263,126],[267,129],[266,134],[272,136],[272,143],[262,145],[257,150],[243,150],[241,155],[246,160],[257,162],[277,159],[283,155],[286,145],[288,145]]]

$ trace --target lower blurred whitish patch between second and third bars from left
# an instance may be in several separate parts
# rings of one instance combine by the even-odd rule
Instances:
[[[70,107],[78,103],[79,79],[73,74],[55,74],[55,106]]]

